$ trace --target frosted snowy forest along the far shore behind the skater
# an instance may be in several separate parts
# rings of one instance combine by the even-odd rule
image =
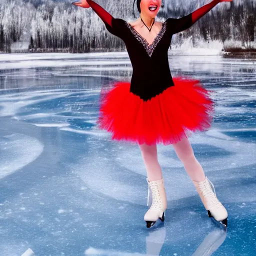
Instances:
[[[96,0],[114,17],[127,21],[139,17],[133,0]],[[205,0],[165,0],[157,19],[181,17],[206,4]],[[184,3],[184,4],[183,4]],[[256,0],[219,3],[190,28],[173,36],[172,46],[185,39],[219,41],[224,50],[256,50]],[[13,50],[16,42],[27,46]],[[91,8],[71,1],[0,0],[0,52],[124,51],[121,39],[110,34]]]

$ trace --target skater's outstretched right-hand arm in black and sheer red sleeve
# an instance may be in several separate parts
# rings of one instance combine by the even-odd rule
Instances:
[[[193,23],[195,23],[200,17],[205,15],[209,10],[211,10],[217,3],[225,2],[225,1],[232,1],[232,0],[212,0],[211,2],[203,5],[202,7],[192,11],[186,16],[181,18],[176,18],[174,20],[174,29],[173,33],[180,32],[189,28]]]

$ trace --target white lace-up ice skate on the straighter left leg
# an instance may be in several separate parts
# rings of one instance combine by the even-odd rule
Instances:
[[[164,188],[163,178],[159,180],[148,181],[147,206],[150,206],[144,215],[146,227],[154,225],[159,218],[164,221],[164,211],[167,208],[166,192]]]

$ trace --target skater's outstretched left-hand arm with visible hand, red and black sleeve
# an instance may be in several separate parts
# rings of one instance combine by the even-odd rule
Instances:
[[[114,17],[111,14],[109,14],[104,8],[102,8],[99,4],[92,0],[78,0],[72,2],[72,4],[83,8],[91,7],[105,23],[107,30],[112,34],[117,35],[117,29],[114,29],[113,27]]]

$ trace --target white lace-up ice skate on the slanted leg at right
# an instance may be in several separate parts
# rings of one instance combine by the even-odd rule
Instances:
[[[208,211],[209,217],[213,217],[216,221],[227,227],[227,211],[217,199],[214,186],[210,180],[205,176],[203,181],[192,181],[205,209]]]

